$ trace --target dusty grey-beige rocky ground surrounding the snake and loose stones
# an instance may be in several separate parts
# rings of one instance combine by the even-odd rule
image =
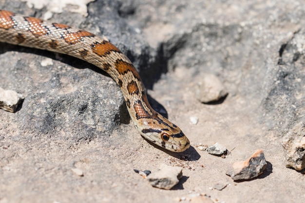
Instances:
[[[119,88],[96,67],[0,43],[0,87],[25,97],[16,113],[0,111],[0,203],[304,202],[304,170],[286,167],[282,146],[286,134],[304,136],[302,0],[78,2],[0,0],[0,9],[107,36],[191,147],[175,154],[144,140]],[[221,101],[198,101],[207,75],[228,92]],[[216,142],[230,151],[226,158],[196,147]],[[259,148],[262,175],[238,182],[226,175]],[[133,171],[161,164],[183,167],[171,190]]]

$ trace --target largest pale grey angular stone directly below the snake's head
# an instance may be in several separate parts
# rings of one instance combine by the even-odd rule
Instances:
[[[147,176],[153,187],[161,189],[171,189],[179,183],[180,178],[182,178],[182,167],[178,166],[162,166],[162,169]]]

